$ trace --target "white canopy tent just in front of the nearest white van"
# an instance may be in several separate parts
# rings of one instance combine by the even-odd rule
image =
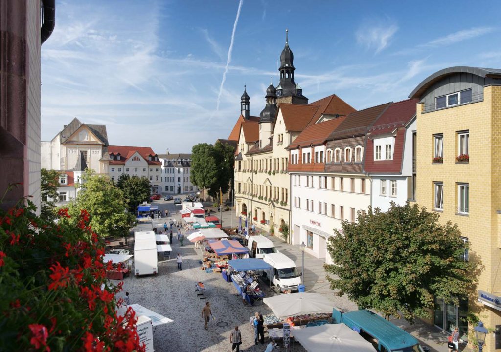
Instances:
[[[332,313],[332,309],[337,308],[332,301],[320,293],[298,292],[280,294],[278,296],[267,297],[263,299],[263,302],[280,319],[301,314]]]

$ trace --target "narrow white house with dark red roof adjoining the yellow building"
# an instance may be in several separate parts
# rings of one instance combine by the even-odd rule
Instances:
[[[414,199],[416,181],[416,103],[392,103],[367,131],[365,170],[372,184],[372,207],[382,211],[393,201]]]

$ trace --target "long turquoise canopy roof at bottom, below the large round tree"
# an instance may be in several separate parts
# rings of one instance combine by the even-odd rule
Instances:
[[[376,313],[360,309],[343,313],[332,310],[332,322],[344,323],[360,333],[379,352],[424,352],[419,341]]]

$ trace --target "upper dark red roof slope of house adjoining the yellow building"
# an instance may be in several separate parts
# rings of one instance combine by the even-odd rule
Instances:
[[[395,128],[407,124],[416,114],[419,99],[406,99],[392,103],[369,128],[370,136],[390,133]]]

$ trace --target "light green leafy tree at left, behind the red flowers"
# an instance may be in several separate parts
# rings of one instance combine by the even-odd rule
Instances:
[[[92,171],[85,172],[84,180],[77,198],[68,204],[70,214],[78,215],[81,209],[86,209],[92,229],[101,237],[126,235],[124,231],[134,225],[135,217],[126,212],[127,202],[123,192],[108,177],[93,174]]]

